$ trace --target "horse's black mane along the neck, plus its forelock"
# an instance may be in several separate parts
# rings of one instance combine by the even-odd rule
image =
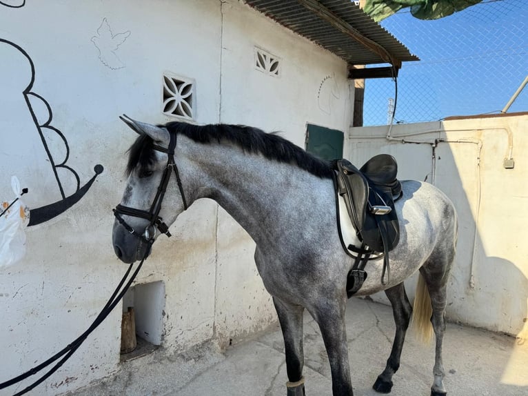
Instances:
[[[275,132],[266,133],[258,128],[249,126],[211,124],[196,126],[190,123],[170,122],[161,125],[170,133],[185,135],[198,143],[208,144],[212,142],[221,143],[229,141],[240,147],[245,152],[261,154],[272,161],[285,164],[296,164],[301,169],[316,175],[317,177],[332,177],[332,169],[327,161],[318,159],[307,153],[302,148],[278,136]],[[154,150],[152,150],[152,139],[141,135],[128,150],[127,174],[136,166],[148,166],[154,161]]]

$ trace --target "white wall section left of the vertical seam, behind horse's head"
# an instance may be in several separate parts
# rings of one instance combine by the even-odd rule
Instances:
[[[116,52],[123,68],[112,70],[101,63],[90,41],[104,18],[114,34],[130,31]],[[203,20],[207,23],[196,23]],[[166,121],[161,115],[161,75],[171,70],[199,81],[199,121],[219,121],[220,27],[219,1],[0,6],[0,37],[23,47],[34,62],[32,91],[50,103],[51,124],[68,139],[68,166],[79,173],[81,184],[92,177],[95,164],[105,168],[77,205],[28,228],[25,259],[0,271],[2,380],[42,362],[83,333],[125,272],[110,243],[111,208],[121,199],[125,150],[135,136],[117,117],[125,112],[145,121]],[[19,71],[8,72],[17,77]],[[20,143],[18,130],[17,117],[0,121],[2,141]],[[8,177],[17,173],[19,163],[11,157],[6,161],[6,153],[1,148],[0,152],[0,175],[7,178],[2,177],[0,191],[2,196],[8,193],[8,199]],[[32,208],[57,199],[32,189],[39,179],[33,180],[31,172],[19,176],[30,188],[26,202]],[[137,280],[165,284],[163,346],[169,351],[213,335],[216,205],[196,203],[192,216],[183,217],[172,231],[172,239],[156,243]],[[68,363],[32,394],[63,393],[119,369],[120,311],[114,310]],[[21,388],[1,394],[11,395],[13,389]]]

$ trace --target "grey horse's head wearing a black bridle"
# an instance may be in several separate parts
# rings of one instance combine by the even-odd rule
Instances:
[[[187,208],[179,170],[174,161],[176,134],[166,128],[120,117],[139,134],[128,150],[128,180],[116,206],[112,230],[114,251],[132,264],[150,254],[160,233]]]

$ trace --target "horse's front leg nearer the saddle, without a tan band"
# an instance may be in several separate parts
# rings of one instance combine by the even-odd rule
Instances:
[[[312,313],[325,342],[332,371],[332,395],[354,396],[350,381],[347,331],[345,327],[346,297],[335,300],[321,297]]]

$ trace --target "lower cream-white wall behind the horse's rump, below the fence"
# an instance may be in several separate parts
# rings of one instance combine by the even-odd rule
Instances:
[[[398,160],[400,179],[433,182],[453,201],[459,217],[456,263],[449,281],[447,316],[454,321],[528,337],[528,249],[523,209],[527,115],[351,128],[347,155],[361,165],[380,152]],[[429,144],[434,142],[436,164]],[[503,167],[509,150],[514,169]],[[434,173],[434,174],[433,174]],[[414,296],[416,277],[406,282]],[[384,295],[375,299],[386,301]]]

